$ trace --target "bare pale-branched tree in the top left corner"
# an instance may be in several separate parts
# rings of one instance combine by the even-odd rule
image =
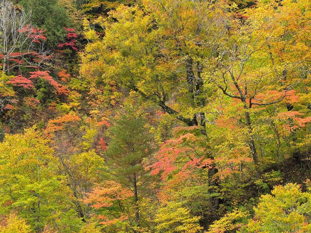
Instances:
[[[40,67],[48,59],[44,30],[36,28],[23,9],[9,0],[0,0],[0,59],[2,70]]]

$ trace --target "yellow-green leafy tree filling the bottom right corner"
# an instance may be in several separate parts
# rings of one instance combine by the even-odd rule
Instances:
[[[262,195],[250,219],[240,232],[309,232],[311,194],[297,184],[276,186],[272,194]]]

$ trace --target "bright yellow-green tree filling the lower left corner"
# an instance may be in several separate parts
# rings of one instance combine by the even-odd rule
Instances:
[[[0,214],[17,211],[37,232],[45,225],[78,231],[82,221],[71,209],[65,177],[53,171],[57,163],[49,139],[31,128],[25,134],[6,135],[0,151]]]

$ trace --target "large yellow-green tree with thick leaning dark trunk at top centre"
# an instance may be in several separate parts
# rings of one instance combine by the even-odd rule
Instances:
[[[94,42],[83,53],[81,73],[125,86],[184,124],[201,124],[204,131],[202,61],[221,46],[229,8],[175,0],[146,1],[142,8],[121,4],[109,12],[111,20],[96,21],[105,29],[102,39],[88,32]]]

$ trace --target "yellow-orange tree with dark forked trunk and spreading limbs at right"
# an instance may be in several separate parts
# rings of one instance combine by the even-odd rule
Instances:
[[[296,32],[309,20],[309,13],[305,14],[302,10],[309,9],[308,6],[307,1],[259,1],[256,8],[246,10],[245,22],[237,21],[235,30],[232,30],[233,36],[219,48],[218,56],[206,64],[209,67],[205,73],[207,86],[215,89],[216,85],[226,96],[225,99],[231,99],[235,110],[226,109],[231,111],[231,118],[237,125],[243,128],[241,134],[246,137],[257,179],[260,178],[261,168],[254,118],[269,106],[274,108],[279,103],[288,102],[286,99],[294,94],[292,90],[300,83],[308,82],[310,51],[299,46],[308,38],[304,33]],[[271,10],[274,7],[278,11]],[[288,24],[283,25],[280,22],[289,19],[289,8],[296,9],[292,11],[295,13]],[[293,36],[296,33],[297,36]],[[301,60],[293,57],[301,57]]]

